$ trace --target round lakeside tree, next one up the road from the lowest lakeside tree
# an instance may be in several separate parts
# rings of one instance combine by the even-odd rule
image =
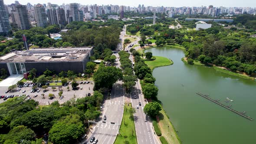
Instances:
[[[145,98],[157,98],[158,87],[156,87],[154,84],[146,83],[142,87],[142,93]]]

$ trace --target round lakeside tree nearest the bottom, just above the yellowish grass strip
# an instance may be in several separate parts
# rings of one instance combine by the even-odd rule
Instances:
[[[149,102],[143,108],[144,113],[146,115],[150,115],[152,118],[158,115],[159,111],[161,110],[161,105],[158,102]]]

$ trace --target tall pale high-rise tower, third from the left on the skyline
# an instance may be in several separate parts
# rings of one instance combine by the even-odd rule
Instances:
[[[38,3],[36,6],[34,6],[34,10],[37,26],[46,27],[48,22],[45,7]]]

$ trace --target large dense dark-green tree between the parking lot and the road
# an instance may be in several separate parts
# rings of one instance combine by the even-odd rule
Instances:
[[[94,90],[100,88],[112,88],[112,85],[118,80],[122,80],[123,73],[121,69],[114,66],[99,66],[98,70],[93,75],[95,82]]]

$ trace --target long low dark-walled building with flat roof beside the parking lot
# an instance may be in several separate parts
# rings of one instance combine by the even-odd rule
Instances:
[[[36,48],[16,51],[0,57],[0,69],[7,69],[9,75],[23,75],[33,68],[38,74],[42,74],[46,69],[56,73],[68,70],[83,73],[92,54],[93,47]]]

